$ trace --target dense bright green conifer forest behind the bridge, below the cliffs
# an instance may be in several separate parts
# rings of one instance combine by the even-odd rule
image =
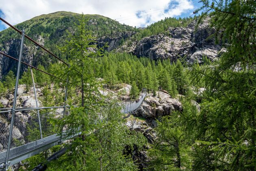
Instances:
[[[39,65],[38,68],[46,70],[42,65]],[[48,67],[47,71],[54,73],[56,69],[60,69],[60,66],[54,63]],[[110,89],[117,89],[121,83],[132,84],[135,82],[133,87],[136,86],[139,90],[147,88],[148,92],[154,94],[159,89],[168,91],[172,97],[177,94],[185,95],[188,92],[189,68],[184,67],[179,60],[176,63],[171,63],[169,60],[155,62],[149,58],[137,58],[127,53],[105,53],[104,56],[92,61],[87,67],[87,71],[95,78],[103,78],[102,83]],[[35,82],[39,86],[51,82],[50,76],[40,71],[34,71],[34,75]],[[26,84],[28,91],[32,85],[30,71],[22,74],[20,83]],[[10,71],[0,83],[0,93],[7,93],[7,89],[12,90],[14,84],[15,76],[13,71]]]

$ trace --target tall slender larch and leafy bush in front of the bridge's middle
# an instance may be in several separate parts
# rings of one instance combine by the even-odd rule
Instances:
[[[145,138],[124,126],[117,100],[100,94],[98,89],[101,85],[93,70],[97,57],[102,53],[93,45],[93,37],[85,26],[86,20],[82,15],[76,33],[70,34],[67,45],[61,48],[70,54],[69,66],[61,66],[57,71],[59,76],[67,77],[68,82],[75,83],[68,84],[68,87],[76,87],[81,92],[79,107],[71,108],[69,115],[53,121],[60,131],[63,126],[69,128],[66,133],[70,136],[79,132],[81,134],[73,139],[69,152],[60,160],[52,162],[49,168],[136,170],[137,166],[129,151],[134,147],[141,149]]]

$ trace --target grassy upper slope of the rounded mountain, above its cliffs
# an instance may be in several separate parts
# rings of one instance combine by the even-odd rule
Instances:
[[[23,28],[26,34],[32,38],[41,35],[43,38],[47,38],[47,41],[59,41],[58,38],[65,35],[66,29],[73,30],[75,24],[78,22],[78,13],[59,11],[50,13],[47,15],[39,15],[25,22],[17,24],[16,27],[20,30]],[[102,15],[89,15],[88,29],[93,32],[96,37],[110,36],[115,32],[136,31],[136,28],[119,24],[113,19],[104,17]],[[16,32],[8,28],[0,32],[0,43],[12,38],[19,38]]]

